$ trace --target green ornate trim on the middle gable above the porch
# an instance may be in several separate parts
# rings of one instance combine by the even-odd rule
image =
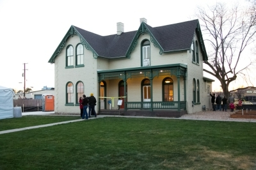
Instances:
[[[131,45],[129,46],[129,49],[127,50],[125,56],[127,58],[131,58],[131,52],[132,50],[135,49],[136,45],[138,44],[138,39],[140,37],[140,35],[144,35],[144,33],[148,33],[148,35],[150,35],[150,41],[152,43],[154,43],[154,47],[157,47],[160,49],[159,54],[163,54],[163,48],[161,47],[161,45],[159,44],[159,42],[157,42],[156,38],[154,37],[154,35],[150,32],[150,30],[148,29],[148,27],[145,25],[144,22],[141,22],[140,27],[138,29],[138,31],[136,32],[136,35],[134,36]]]

